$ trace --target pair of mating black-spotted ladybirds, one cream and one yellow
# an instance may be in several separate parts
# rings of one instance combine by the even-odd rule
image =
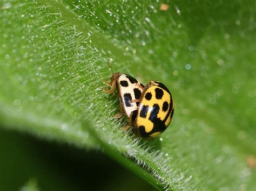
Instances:
[[[158,81],[150,81],[144,86],[134,77],[114,73],[110,82],[105,82],[113,93],[117,87],[120,101],[120,114],[129,118],[129,125],[135,135],[150,139],[160,135],[170,124],[174,112],[172,95],[166,86]]]

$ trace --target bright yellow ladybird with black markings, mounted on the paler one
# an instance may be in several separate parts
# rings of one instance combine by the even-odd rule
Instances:
[[[150,139],[164,132],[171,123],[174,112],[172,95],[166,86],[158,81],[146,84],[137,110],[130,115],[133,132]]]

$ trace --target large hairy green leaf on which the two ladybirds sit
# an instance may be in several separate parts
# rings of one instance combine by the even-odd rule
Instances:
[[[103,150],[159,189],[253,189],[254,3],[164,3],[1,2],[1,126]],[[122,131],[110,60],[170,88],[163,135]]]

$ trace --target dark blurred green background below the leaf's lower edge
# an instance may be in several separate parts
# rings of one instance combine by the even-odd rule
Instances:
[[[30,182],[39,190],[153,189],[100,151],[46,142],[3,129],[0,145],[1,190],[20,190]]]

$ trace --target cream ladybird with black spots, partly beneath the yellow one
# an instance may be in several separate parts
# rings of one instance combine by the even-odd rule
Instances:
[[[105,84],[111,88],[104,91],[113,93],[114,88],[117,87],[120,101],[120,114],[114,117],[120,118],[125,112],[126,116],[130,118],[131,112],[138,110],[139,98],[142,95],[144,85],[134,77],[122,73],[113,73],[110,79],[111,81],[105,81]]]

